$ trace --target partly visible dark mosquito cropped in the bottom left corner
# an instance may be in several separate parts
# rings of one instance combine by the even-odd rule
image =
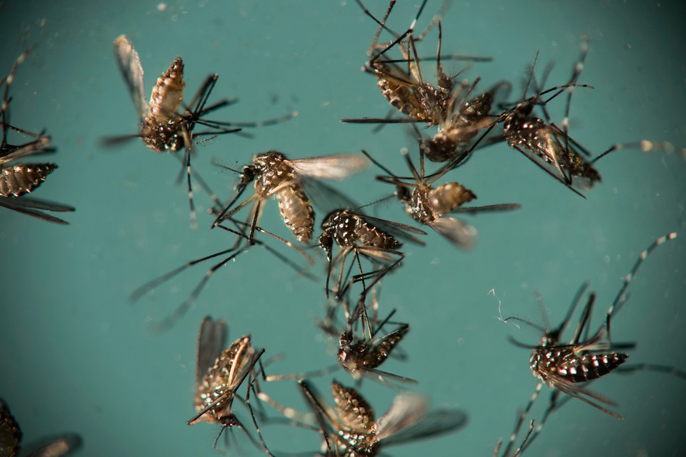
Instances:
[[[7,403],[0,398],[0,456],[17,457],[22,444],[22,429],[13,417]],[[70,433],[49,439],[41,440],[37,449],[33,449],[31,457],[61,457],[79,449],[82,440],[79,435]]]

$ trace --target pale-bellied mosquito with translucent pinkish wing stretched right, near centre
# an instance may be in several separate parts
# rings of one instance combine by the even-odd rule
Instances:
[[[270,196],[273,196],[279,202],[284,224],[293,232],[298,241],[307,243],[312,238],[314,210],[312,210],[310,198],[305,194],[303,180],[305,178],[343,180],[353,173],[363,171],[368,165],[367,159],[360,154],[324,155],[296,160],[289,160],[283,153],[275,150],[258,154],[251,164],[243,167],[240,173],[241,178],[236,185],[236,196],[215,219],[213,227],[254,201],[248,217],[250,231],[247,235],[248,242],[252,244],[254,227],[259,222],[264,204]],[[255,193],[234,206],[253,181]]]

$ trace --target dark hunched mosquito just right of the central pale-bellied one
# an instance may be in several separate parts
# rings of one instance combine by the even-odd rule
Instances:
[[[353,277],[352,283],[362,281],[364,290],[368,291],[405,258],[405,254],[399,251],[402,243],[396,240],[391,232],[395,233],[395,235],[402,235],[420,245],[423,245],[424,242],[411,235],[411,233],[427,234],[425,231],[416,229],[413,226],[363,215],[349,208],[330,212],[321,223],[321,230],[319,246],[326,252],[328,260],[326,271],[327,298],[330,290],[331,272],[338,261],[340,261],[341,266],[336,284],[337,298],[345,295],[348,286],[343,287],[343,272],[345,270],[346,258],[351,252],[354,254],[356,263],[360,268],[360,274]],[[333,256],[334,242],[340,247],[340,251],[335,256]],[[375,265],[381,263],[381,268],[364,273],[360,263],[360,255],[366,257]],[[369,277],[374,277],[375,279],[367,286],[365,285],[365,279]]]

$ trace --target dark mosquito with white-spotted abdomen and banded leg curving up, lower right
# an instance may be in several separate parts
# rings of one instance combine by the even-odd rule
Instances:
[[[545,330],[538,346],[533,346],[533,348],[531,348],[531,346],[526,346],[515,340],[511,340],[517,346],[532,349],[529,366],[533,375],[540,380],[531,399],[526,405],[526,408],[524,408],[524,412],[522,412],[515,425],[515,432],[513,435],[519,433],[519,428],[521,428],[521,424],[524,422],[526,415],[531,411],[533,403],[536,398],[538,398],[543,384],[547,384],[549,387],[555,389],[553,392],[554,400],[551,400],[551,405],[545,412],[544,419],[538,424],[535,435],[540,433],[540,429],[545,424],[548,415],[556,408],[558,392],[567,394],[570,397],[579,398],[579,400],[588,403],[612,417],[622,419],[616,412],[604,408],[597,402],[605,403],[606,405],[615,405],[616,403],[609,398],[586,389],[586,387],[582,387],[581,384],[601,378],[612,371],[621,371],[620,365],[622,365],[629,356],[624,352],[618,352],[618,350],[633,348],[635,344],[611,342],[611,318],[613,318],[627,301],[627,288],[636,276],[643,261],[645,261],[648,255],[658,246],[662,245],[664,242],[673,240],[676,236],[676,232],[673,232],[657,238],[657,240],[648,246],[645,251],[641,252],[631,271],[626,275],[619,292],[609,307],[605,315],[604,324],[592,336],[589,336],[588,334],[590,329],[590,316],[593,311],[593,305],[595,304],[595,293],[590,293],[588,296],[586,306],[581,312],[581,318],[579,319],[579,323],[577,324],[570,342],[561,343],[562,334],[567,325],[569,325],[574,310],[577,308],[577,305],[581,301],[581,297],[588,288],[588,283],[585,283],[579,288],[574,300],[572,300],[570,309],[567,311],[567,315],[562,323],[552,330]],[[526,320],[515,317],[505,319],[505,321],[509,320],[520,320],[528,325],[533,325]],[[656,371],[665,370],[660,369]],[[531,441],[533,441],[535,435],[531,438]],[[507,451],[509,451],[511,446],[512,442],[508,444]],[[507,451],[505,455],[507,455]]]

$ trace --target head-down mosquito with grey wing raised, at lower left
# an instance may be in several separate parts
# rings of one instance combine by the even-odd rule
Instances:
[[[206,316],[200,324],[197,345],[197,369],[195,372],[195,409],[188,425],[201,421],[221,424],[222,429],[214,441],[215,448],[224,431],[232,427],[241,428],[255,447],[259,444],[234,414],[234,398],[246,378],[255,373],[255,365],[264,353],[251,345],[250,335],[226,346],[227,323]],[[246,385],[250,385],[250,379]],[[228,431],[227,431],[228,433]]]

